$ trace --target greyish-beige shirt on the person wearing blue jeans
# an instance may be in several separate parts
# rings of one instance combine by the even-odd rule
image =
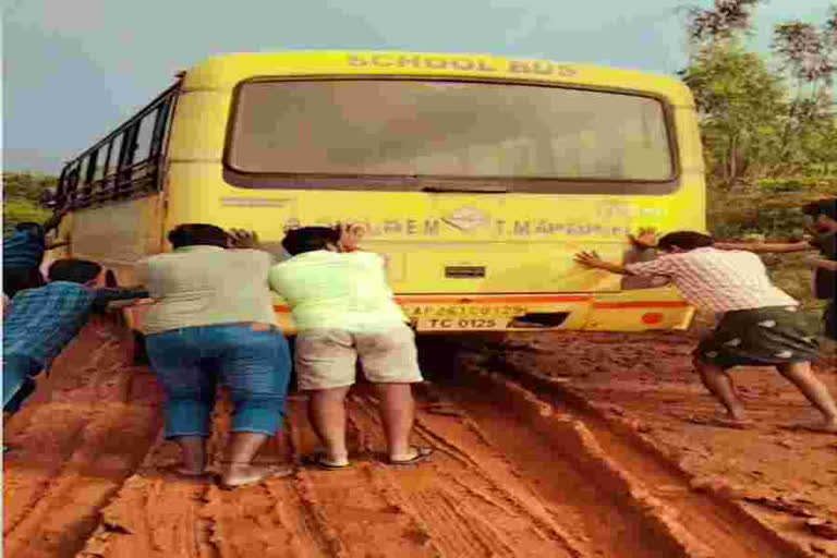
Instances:
[[[270,255],[257,250],[186,246],[136,267],[155,301],[145,332],[239,322],[276,324],[267,275]]]

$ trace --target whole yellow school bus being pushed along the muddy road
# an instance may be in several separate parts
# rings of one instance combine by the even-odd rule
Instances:
[[[705,230],[691,93],[640,72],[482,54],[207,60],[63,169],[69,255],[119,283],[169,230],[360,222],[421,331],[678,329],[670,287],[622,289],[627,235]],[[140,304],[130,310],[134,327]],[[276,298],[280,323],[293,324]]]

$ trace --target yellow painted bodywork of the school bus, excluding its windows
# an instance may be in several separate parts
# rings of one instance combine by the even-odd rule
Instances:
[[[240,187],[222,165],[234,89],[283,76],[473,78],[633,92],[659,97],[676,132],[678,187],[665,195],[463,194]],[[170,250],[183,222],[255,230],[278,259],[284,232],[362,222],[363,247],[380,253],[399,303],[418,331],[681,329],[694,308],[670,287],[620,290],[620,278],[572,260],[595,250],[618,262],[642,227],[704,231],[705,186],[694,105],[677,80],[639,72],[469,54],[292,52],[233,54],[185,73],[171,122],[159,195],[76,211],[73,255],[120,270]],[[279,296],[280,325],[294,327]],[[141,324],[143,305],[132,310]]]

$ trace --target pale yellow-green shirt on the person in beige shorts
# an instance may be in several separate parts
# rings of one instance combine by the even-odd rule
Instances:
[[[288,301],[300,330],[371,332],[407,322],[387,284],[384,258],[371,252],[300,254],[274,266],[270,287]]]

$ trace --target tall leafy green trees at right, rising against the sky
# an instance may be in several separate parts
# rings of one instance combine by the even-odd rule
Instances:
[[[837,166],[837,7],[821,27],[777,25],[772,68],[744,48],[759,3],[715,0],[687,19],[692,49],[680,75],[695,96],[711,182],[727,189]]]

